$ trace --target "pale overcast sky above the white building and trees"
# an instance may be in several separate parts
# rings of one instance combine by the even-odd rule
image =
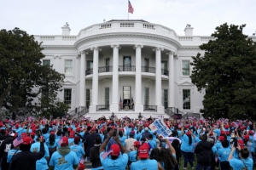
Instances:
[[[187,24],[194,36],[210,36],[227,22],[246,24],[244,34],[256,31],[256,0],[131,0],[130,20],[147,20],[184,35]],[[128,0],[0,0],[0,29],[19,27],[33,35],[61,35],[68,22],[71,35],[105,20],[127,20]]]

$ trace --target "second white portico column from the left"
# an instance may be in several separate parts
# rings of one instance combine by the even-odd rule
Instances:
[[[91,48],[93,50],[93,72],[92,72],[92,99],[90,105],[90,112],[96,111],[98,105],[98,67],[99,67],[99,50],[97,47]]]

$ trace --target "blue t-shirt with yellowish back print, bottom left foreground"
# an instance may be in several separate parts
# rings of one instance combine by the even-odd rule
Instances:
[[[54,166],[55,170],[73,170],[73,165],[78,165],[77,155],[70,151],[66,156],[61,156],[58,151],[52,154],[49,166]]]

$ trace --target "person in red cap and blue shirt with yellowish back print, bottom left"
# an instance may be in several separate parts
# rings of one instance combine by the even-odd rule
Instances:
[[[77,155],[68,147],[67,137],[62,138],[61,148],[59,148],[50,158],[50,170],[73,170],[79,167]]]

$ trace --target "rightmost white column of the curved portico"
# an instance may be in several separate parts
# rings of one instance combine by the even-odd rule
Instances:
[[[168,70],[169,70],[168,107],[174,107],[174,63],[173,63],[172,51],[169,52]]]

